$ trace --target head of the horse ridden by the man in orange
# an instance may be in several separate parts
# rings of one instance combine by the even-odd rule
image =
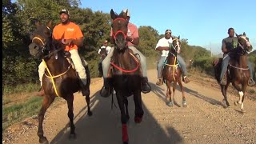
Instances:
[[[48,22],[47,26],[41,25],[40,22],[36,22],[35,25],[37,29],[30,35],[32,42],[29,50],[35,58],[43,58],[50,52],[52,21]]]

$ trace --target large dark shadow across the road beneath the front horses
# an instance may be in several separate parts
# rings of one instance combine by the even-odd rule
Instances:
[[[118,104],[115,95],[114,101]],[[144,110],[142,122],[136,124],[134,122],[134,100],[129,97],[128,101],[130,114],[128,134],[131,144],[183,143],[182,137],[173,127],[162,129],[150,111],[146,109],[144,103],[142,104]],[[111,110],[111,98],[102,98],[99,96],[99,91],[92,96],[90,105],[93,116],[87,115],[86,106],[78,113],[80,114],[79,119],[77,115],[75,116],[77,119],[75,121],[76,139],[69,139],[70,131],[67,130],[68,125],[66,125],[50,143],[121,144],[122,124],[119,108],[113,107]]]

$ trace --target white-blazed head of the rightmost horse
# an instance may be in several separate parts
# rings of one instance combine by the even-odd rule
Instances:
[[[239,34],[239,35],[236,34],[236,36],[238,38],[238,48],[240,48],[239,50],[241,50],[239,53],[244,55],[253,49],[253,46],[251,46],[249,42],[249,38],[246,37],[246,33]]]

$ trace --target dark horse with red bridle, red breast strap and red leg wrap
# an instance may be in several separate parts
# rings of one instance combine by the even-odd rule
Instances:
[[[141,71],[138,58],[128,48],[127,26],[126,21],[127,12],[116,14],[113,10],[110,11],[114,39],[114,54],[111,59],[111,74],[112,74],[112,86],[116,91],[116,97],[118,99],[118,106],[121,111],[122,122],[122,142],[128,143],[128,134],[126,123],[129,120],[128,112],[128,99],[130,95],[134,95],[135,103],[135,116],[134,121],[136,123],[142,122],[142,116],[144,114],[142,110],[142,95],[141,95]]]

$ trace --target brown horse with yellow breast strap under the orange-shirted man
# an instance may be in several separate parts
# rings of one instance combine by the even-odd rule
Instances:
[[[66,100],[68,106],[68,117],[70,118],[70,138],[75,138],[73,100],[74,93],[84,89],[86,102],[88,106],[88,115],[92,115],[90,111],[90,72],[86,66],[87,83],[81,86],[77,72],[72,68],[70,62],[64,54],[65,45],[61,41],[52,39],[51,21],[47,26],[36,23],[37,30],[31,35],[32,42],[29,49],[30,54],[36,58],[42,59],[46,64],[46,73],[42,78],[42,88],[45,95],[42,102],[42,108],[38,114],[38,137],[40,143],[48,143],[47,138],[43,135],[42,122],[46,110],[56,97],[62,97]]]

